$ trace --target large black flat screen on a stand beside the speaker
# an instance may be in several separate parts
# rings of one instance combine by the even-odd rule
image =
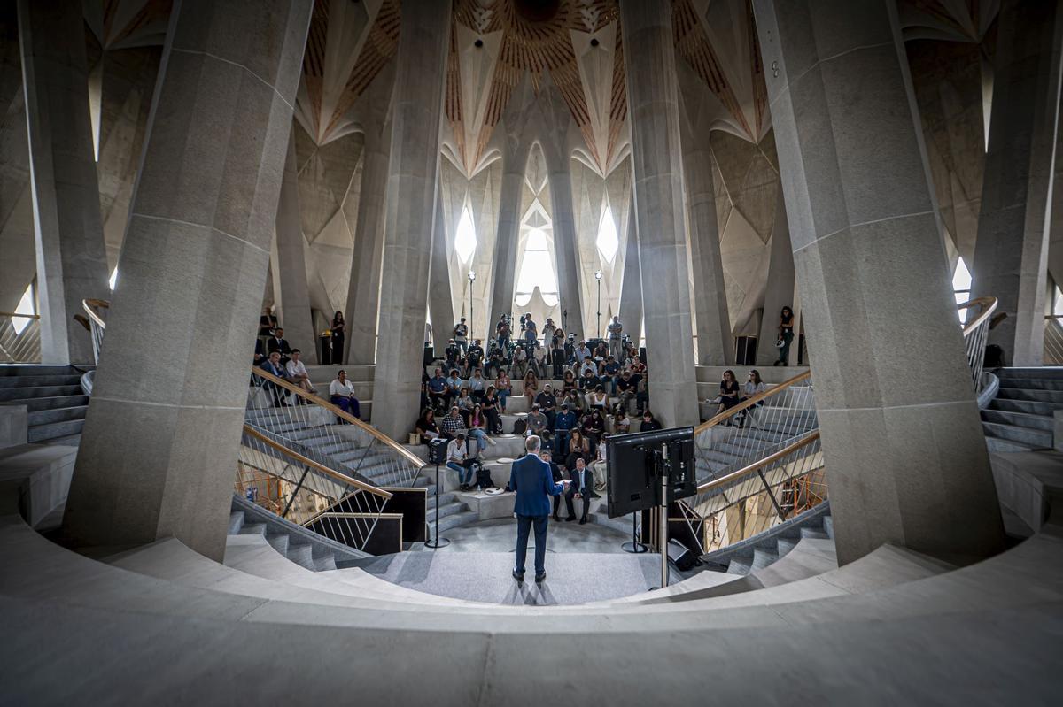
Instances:
[[[664,448],[668,449],[671,468],[668,502],[697,493],[694,428],[632,432],[608,437],[605,442],[608,478],[606,507],[610,518],[660,505]]]

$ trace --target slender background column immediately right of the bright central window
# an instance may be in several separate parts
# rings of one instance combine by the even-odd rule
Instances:
[[[543,155],[546,158],[550,208],[554,220],[554,256],[557,261],[560,311],[569,312],[568,320],[561,315],[561,322],[567,321],[568,331],[575,331],[578,339],[586,337],[588,332],[584,326],[584,308],[580,304],[583,299],[579,292],[579,263],[576,259],[576,219],[572,210],[571,158],[567,153],[555,150],[543,150]],[[516,254],[513,258],[516,264]]]

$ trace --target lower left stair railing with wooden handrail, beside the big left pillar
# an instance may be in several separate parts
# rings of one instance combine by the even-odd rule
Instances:
[[[288,449],[244,425],[236,493],[300,525],[365,550],[391,494]],[[342,507],[345,513],[336,513]]]

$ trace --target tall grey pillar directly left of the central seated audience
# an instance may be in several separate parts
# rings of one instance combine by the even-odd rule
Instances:
[[[419,413],[451,3],[403,3],[373,385],[373,425],[404,437]]]

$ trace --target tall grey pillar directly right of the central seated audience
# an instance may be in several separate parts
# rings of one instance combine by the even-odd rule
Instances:
[[[664,427],[697,425],[679,91],[669,3],[622,0],[649,406]]]

